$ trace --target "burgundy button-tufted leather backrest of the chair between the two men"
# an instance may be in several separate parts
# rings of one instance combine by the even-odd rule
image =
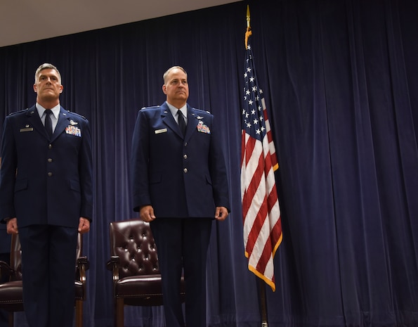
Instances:
[[[160,274],[150,225],[141,219],[110,223],[111,256],[119,257],[119,278]]]

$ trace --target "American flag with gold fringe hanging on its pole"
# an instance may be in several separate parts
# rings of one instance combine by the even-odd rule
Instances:
[[[274,172],[278,169],[263,91],[248,44],[242,108],[241,197],[248,269],[275,291],[273,258],[282,242]]]

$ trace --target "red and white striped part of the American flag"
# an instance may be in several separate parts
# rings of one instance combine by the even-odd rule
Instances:
[[[274,176],[277,157],[264,99],[262,103],[266,136],[259,141],[242,130],[242,217],[248,269],[274,291],[273,258],[282,241],[282,225]]]

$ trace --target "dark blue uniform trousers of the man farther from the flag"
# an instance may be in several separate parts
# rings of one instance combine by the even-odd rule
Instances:
[[[77,229],[19,228],[23,305],[30,327],[72,327]]]

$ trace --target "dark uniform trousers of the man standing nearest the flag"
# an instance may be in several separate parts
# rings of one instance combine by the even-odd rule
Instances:
[[[206,265],[209,218],[156,218],[150,223],[157,245],[166,327],[206,327]],[[180,296],[185,279],[185,319]]]

